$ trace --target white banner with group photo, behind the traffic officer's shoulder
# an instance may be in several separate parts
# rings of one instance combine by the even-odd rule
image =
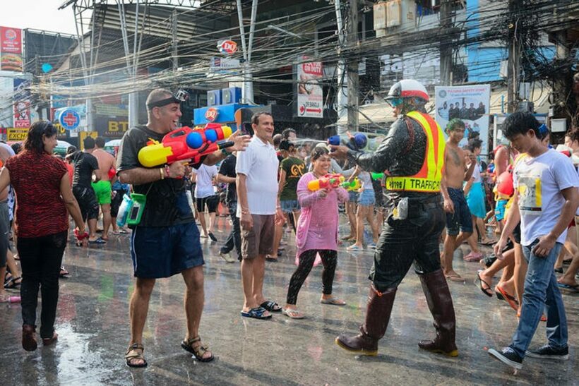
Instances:
[[[436,86],[436,122],[444,131],[448,121],[458,118],[465,122],[465,138],[459,145],[468,143],[469,135],[479,134],[482,140],[481,155],[489,153],[489,107],[491,85]]]

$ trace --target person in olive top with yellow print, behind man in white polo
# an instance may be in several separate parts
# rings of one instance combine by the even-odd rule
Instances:
[[[297,182],[306,172],[306,164],[295,155],[295,146],[289,140],[282,140],[280,153],[283,159],[280,162],[280,188],[277,194],[280,196],[280,205],[284,216],[287,218],[286,221],[290,224],[297,224],[300,210],[297,201]],[[290,215],[294,217],[293,222],[288,221]],[[277,249],[280,248],[282,234],[283,224],[275,224],[273,253],[268,255],[266,260],[277,260]]]

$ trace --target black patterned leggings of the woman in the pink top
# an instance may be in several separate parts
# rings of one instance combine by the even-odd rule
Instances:
[[[287,304],[295,304],[297,302],[297,294],[299,294],[299,290],[302,289],[302,285],[304,285],[311,268],[314,267],[316,253],[320,253],[323,264],[322,293],[325,295],[332,294],[332,284],[334,282],[335,266],[338,262],[338,252],[328,249],[310,249],[299,255],[299,265],[294,275],[292,275],[290,287],[287,289]]]

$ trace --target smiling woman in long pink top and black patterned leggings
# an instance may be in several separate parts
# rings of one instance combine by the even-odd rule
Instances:
[[[287,303],[283,313],[290,318],[301,319],[304,315],[297,310],[297,294],[314,265],[323,263],[321,303],[335,306],[345,301],[332,296],[335,267],[338,260],[338,201],[345,203],[348,193],[344,188],[320,189],[312,192],[309,181],[328,174],[330,156],[328,150],[316,147],[311,152],[314,170],[304,174],[297,183],[297,198],[302,207],[296,231],[297,269],[287,290]],[[316,256],[318,256],[316,258]]]

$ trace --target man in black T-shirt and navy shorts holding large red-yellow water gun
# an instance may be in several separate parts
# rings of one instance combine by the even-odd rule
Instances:
[[[198,361],[208,362],[214,358],[198,336],[204,299],[204,261],[199,231],[187,200],[183,176],[190,166],[198,167],[201,163],[212,165],[227,157],[231,151],[244,150],[249,143],[249,136],[233,133],[229,136],[232,142],[226,148],[228,151],[203,152],[196,157],[196,163],[189,165],[190,159],[180,159],[179,154],[173,154],[177,152],[177,146],[158,146],[167,133],[177,128],[181,116],[180,102],[183,100],[180,95],[181,92],[175,96],[165,89],[151,91],[146,102],[148,123],[127,131],[119,147],[117,174],[121,183],[130,183],[135,193],[145,197],[141,198],[144,207],[140,222],[132,226],[131,235],[131,258],[136,285],[130,302],[131,342],[125,355],[129,367],[147,366],[143,356],[143,328],[155,279],[171,277],[177,273],[183,275],[186,284],[184,303],[187,332],[181,347],[191,352]],[[170,154],[165,159],[169,164],[157,162],[162,157],[154,160],[143,158],[142,155],[149,152],[141,150],[145,147],[150,150],[150,142],[156,144],[153,145],[156,146],[155,150],[162,147],[160,151]],[[213,150],[215,145],[207,148]],[[173,162],[174,159],[177,160]]]

